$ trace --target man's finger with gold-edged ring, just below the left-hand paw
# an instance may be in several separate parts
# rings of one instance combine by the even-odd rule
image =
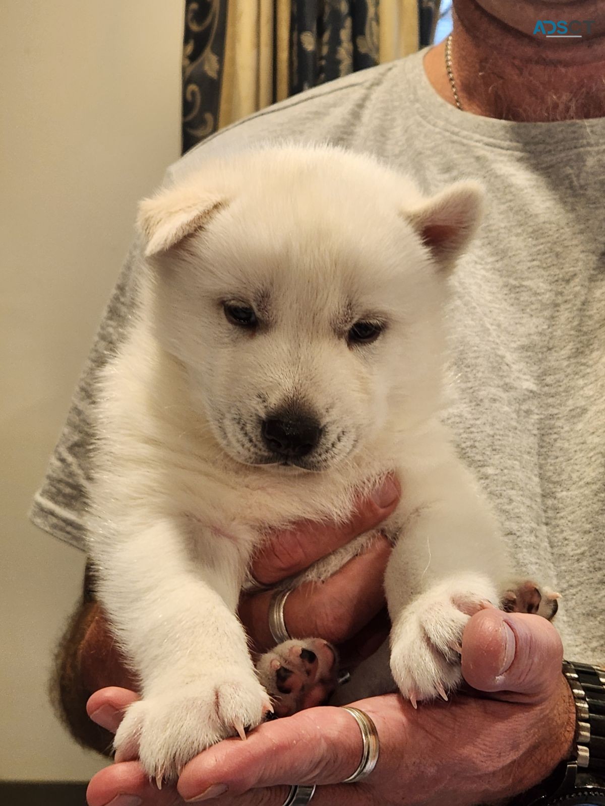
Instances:
[[[372,700],[360,707],[373,715]],[[361,751],[361,731],[351,714],[342,708],[309,708],[260,725],[246,742],[228,739],[209,748],[186,765],[177,789],[187,801],[210,787],[227,787],[230,796],[237,796],[280,784],[341,783],[356,770]]]

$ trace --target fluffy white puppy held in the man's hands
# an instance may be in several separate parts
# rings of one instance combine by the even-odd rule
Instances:
[[[369,156],[289,143],[142,202],[142,302],[100,379],[89,550],[143,696],[115,746],[150,775],[270,709],[236,617],[264,535],[346,519],[388,472],[403,490],[383,525],[390,670],[412,700],[459,683],[469,613],[507,587],[440,423],[447,278],[481,205],[469,182],[423,198]],[[391,685],[387,662],[351,691]]]

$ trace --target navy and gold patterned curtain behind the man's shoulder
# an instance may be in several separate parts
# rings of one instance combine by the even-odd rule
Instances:
[[[432,35],[438,6],[439,0],[186,0],[183,152],[283,98],[414,52]]]

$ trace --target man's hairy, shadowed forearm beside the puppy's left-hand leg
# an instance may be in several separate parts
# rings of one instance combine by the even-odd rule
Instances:
[[[115,646],[101,606],[85,597],[57,649],[51,694],[60,718],[77,742],[102,754],[109,754],[113,737],[90,721],[86,700],[106,686],[137,688]]]

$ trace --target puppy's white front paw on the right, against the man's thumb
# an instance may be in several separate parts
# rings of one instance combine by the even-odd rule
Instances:
[[[498,606],[495,588],[477,578],[474,585],[442,583],[414,600],[397,619],[390,637],[390,668],[399,691],[411,704],[448,699],[461,683],[462,633],[478,610]]]

